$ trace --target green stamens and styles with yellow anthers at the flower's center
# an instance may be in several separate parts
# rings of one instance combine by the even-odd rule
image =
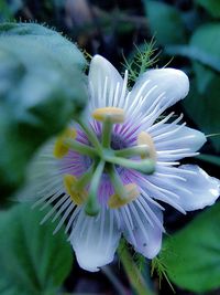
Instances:
[[[85,203],[85,211],[88,215],[97,215],[100,210],[98,189],[103,175],[109,176],[114,189],[108,206],[111,209],[120,208],[135,200],[140,192],[133,182],[123,185],[116,167],[134,169],[150,175],[154,172],[156,155],[153,141],[146,133],[141,133],[138,136],[138,145],[132,147],[127,147],[121,137],[112,133],[114,124],[124,123],[125,116],[122,108],[97,108],[92,117],[102,124],[100,136],[97,136],[81,118],[77,119],[89,140],[89,145],[77,141],[75,139],[76,130],[68,128],[57,138],[54,146],[54,156],[57,158],[74,150],[90,159],[91,164],[88,170],[80,178],[77,179],[73,175],[64,176],[66,192],[76,204]]]

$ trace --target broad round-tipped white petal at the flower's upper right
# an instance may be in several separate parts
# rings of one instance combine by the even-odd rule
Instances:
[[[143,99],[142,112],[147,116],[156,108],[164,112],[184,98],[188,91],[189,81],[184,72],[175,69],[150,70],[136,81],[130,99]]]

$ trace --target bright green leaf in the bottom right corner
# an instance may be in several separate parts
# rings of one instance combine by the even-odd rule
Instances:
[[[198,293],[220,286],[219,224],[217,203],[165,241],[161,257],[176,285]]]

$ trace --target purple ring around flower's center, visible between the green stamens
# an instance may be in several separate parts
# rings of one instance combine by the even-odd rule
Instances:
[[[90,124],[90,126],[91,129],[94,129],[99,141],[101,141],[101,135],[102,135],[101,124],[99,122],[94,122],[94,124]],[[136,130],[139,129],[139,127],[133,127],[129,123],[125,123],[123,125],[120,124],[114,125],[111,134],[110,147],[113,150],[120,150],[135,145]],[[76,130],[77,130],[77,137],[76,137],[77,141],[87,146],[92,146],[89,143],[87,135],[81,129],[77,127]],[[92,159],[89,158],[89,156],[84,156],[78,154],[77,151],[69,150],[68,154],[59,161],[58,165],[61,173],[73,175],[77,178],[80,178],[91,167]],[[130,176],[131,176],[130,170],[118,165],[116,165],[116,170],[119,173],[122,183],[128,185],[130,182]],[[103,171],[98,190],[99,202],[107,203],[109,197],[112,193],[114,193],[114,189],[110,181],[109,175],[106,171]]]

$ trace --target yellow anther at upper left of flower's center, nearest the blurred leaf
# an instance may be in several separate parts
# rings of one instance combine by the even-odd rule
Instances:
[[[68,154],[69,148],[65,145],[66,139],[75,139],[76,130],[74,128],[66,128],[56,139],[54,145],[54,157],[61,159]]]

